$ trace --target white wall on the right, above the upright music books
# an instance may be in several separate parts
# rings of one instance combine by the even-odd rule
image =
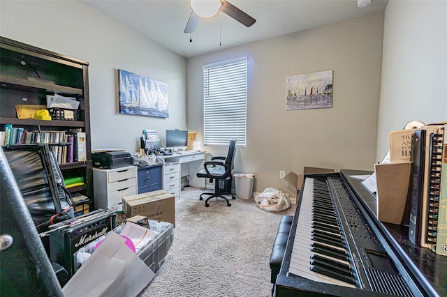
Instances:
[[[389,131],[447,121],[447,1],[389,1],[384,26],[377,160]]]

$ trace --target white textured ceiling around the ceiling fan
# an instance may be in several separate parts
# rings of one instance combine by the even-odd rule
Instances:
[[[186,58],[379,13],[386,0],[358,8],[356,0],[228,0],[256,19],[249,28],[219,13],[184,33],[189,0],[78,0]],[[221,24],[221,25],[220,25]],[[192,38],[192,42],[190,42]],[[221,43],[221,45],[219,45]]]

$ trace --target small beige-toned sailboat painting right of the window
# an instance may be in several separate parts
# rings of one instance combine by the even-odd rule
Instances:
[[[333,70],[288,76],[287,110],[331,108]]]

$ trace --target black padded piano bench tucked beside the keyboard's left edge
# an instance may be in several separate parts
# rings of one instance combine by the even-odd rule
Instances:
[[[274,238],[272,254],[270,255],[270,269],[272,270],[270,282],[272,284],[276,282],[279,269],[281,269],[284,252],[286,252],[288,234],[291,232],[292,221],[293,215],[283,215],[281,222],[279,222],[277,236]]]

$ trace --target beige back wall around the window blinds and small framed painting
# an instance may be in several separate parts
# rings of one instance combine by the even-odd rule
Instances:
[[[235,172],[254,172],[256,192],[274,187],[292,194],[280,170],[372,170],[382,38],[379,14],[189,59],[188,128],[203,137],[202,65],[248,56],[247,147],[237,151]],[[287,111],[286,77],[322,70],[334,71],[333,108]],[[203,149],[226,153],[226,148]]]

